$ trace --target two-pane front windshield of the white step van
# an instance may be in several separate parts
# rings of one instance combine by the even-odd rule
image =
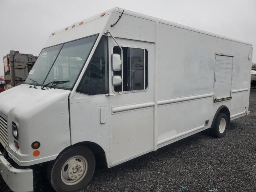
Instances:
[[[53,81],[67,81],[59,88],[71,89],[86,62],[98,35],[44,48],[25,83],[45,85]]]

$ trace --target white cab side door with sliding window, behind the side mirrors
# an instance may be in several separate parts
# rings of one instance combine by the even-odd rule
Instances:
[[[110,86],[111,166],[153,150],[154,44],[117,41],[123,50],[123,93],[122,86]],[[109,42],[111,52],[121,54],[114,40]],[[110,68],[110,74],[121,71]]]

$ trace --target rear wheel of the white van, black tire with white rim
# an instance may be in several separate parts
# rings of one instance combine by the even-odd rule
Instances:
[[[228,116],[224,113],[219,113],[214,122],[214,126],[210,128],[211,135],[218,138],[222,138],[226,136],[228,125],[229,125]]]

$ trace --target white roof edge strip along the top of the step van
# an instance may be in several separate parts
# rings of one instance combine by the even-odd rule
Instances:
[[[144,14],[140,14],[140,13],[137,13],[137,12],[133,12],[133,11],[130,11],[130,10],[126,10],[126,9],[122,9],[122,8],[118,8],[118,7],[115,7],[115,8],[112,8],[110,10],[107,10],[105,12],[103,12],[102,14],[104,15],[109,15],[111,14],[112,12],[119,12],[120,14],[126,14],[126,15],[130,15],[130,16],[134,16],[134,17],[138,17],[138,18],[142,18],[142,19],[146,19],[146,20],[150,20],[150,21],[153,21],[153,22],[158,22],[158,23],[161,23],[161,24],[167,24],[167,25],[170,25],[170,26],[175,26],[175,27],[178,27],[178,28],[183,28],[183,29],[186,29],[186,30],[190,30],[190,31],[194,31],[194,32],[198,32],[198,33],[201,33],[201,34],[206,34],[206,35],[209,35],[209,36],[214,36],[214,37],[218,37],[218,38],[222,38],[222,39],[225,39],[225,40],[230,40],[230,41],[234,41],[234,42],[238,42],[238,43],[242,43],[242,44],[246,44],[246,45],[250,45],[252,46],[251,43],[249,42],[245,42],[245,41],[241,41],[241,40],[237,40],[237,39],[233,39],[233,38],[229,38],[229,37],[226,37],[226,36],[221,36],[221,35],[218,35],[218,34],[214,34],[214,33],[211,33],[211,32],[206,32],[204,30],[199,30],[199,29],[196,29],[196,28],[192,28],[192,27],[188,27],[188,26],[184,26],[184,25],[181,25],[181,24],[177,24],[177,23],[174,23],[174,22],[170,22],[170,21],[167,21],[167,20],[163,20],[163,19],[159,19],[159,18],[155,18],[155,17],[152,17],[152,16],[148,16],[148,15],[144,15]],[[87,18],[85,20],[82,20],[80,22],[77,22],[77,23],[74,23],[70,26],[67,26],[66,28],[62,28],[56,32],[53,32],[51,36],[54,36],[56,34],[60,34],[62,32],[65,32],[65,31],[68,31],[72,28],[76,28],[76,27],[79,27],[80,25],[82,24],[85,24],[85,23],[89,23],[89,22],[92,22],[96,19],[99,19],[102,17],[102,14],[97,14],[95,16],[92,16],[90,18]],[[120,22],[122,22],[120,20]],[[107,21],[105,22],[102,22],[102,24],[104,23],[104,28],[106,27],[106,24],[107,24]],[[102,27],[102,26],[101,26]],[[88,30],[88,28],[87,28]],[[58,40],[60,40],[60,38],[57,38]],[[45,47],[48,47],[48,46],[52,46],[54,45],[52,41],[50,41],[50,44],[46,43],[46,46]]]

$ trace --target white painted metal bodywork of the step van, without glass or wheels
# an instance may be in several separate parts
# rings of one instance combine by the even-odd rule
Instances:
[[[0,94],[0,116],[7,120],[8,130],[8,140],[0,134],[0,142],[17,164],[54,160],[70,145],[91,142],[104,150],[112,167],[210,128],[220,106],[230,110],[231,120],[248,114],[251,44],[128,10],[111,27],[122,11],[113,8],[48,39],[45,47],[98,34],[72,89],[41,90],[23,84]],[[77,88],[104,35],[108,36],[109,92],[80,93]],[[114,91],[111,54],[117,42],[131,52],[144,52],[142,58],[133,53],[130,58],[132,64],[137,62],[135,68],[144,70],[141,90],[133,89],[132,83],[131,90]],[[134,66],[123,76],[133,77]],[[214,102],[227,96],[229,100]],[[12,121],[20,126],[19,149],[13,144]],[[34,141],[41,143],[38,157],[30,148]]]

